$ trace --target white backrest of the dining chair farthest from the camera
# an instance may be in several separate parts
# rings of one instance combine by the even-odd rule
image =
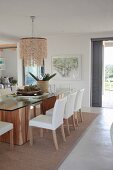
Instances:
[[[82,98],[83,98],[84,89],[81,89],[77,92],[74,111],[78,111],[82,107]]]

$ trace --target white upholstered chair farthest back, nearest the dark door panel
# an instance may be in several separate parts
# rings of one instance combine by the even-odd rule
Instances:
[[[81,122],[83,121],[82,111],[81,111],[83,94],[84,94],[84,89],[78,90],[77,96],[76,96],[76,99],[75,99],[74,114],[75,114],[75,119],[77,121],[77,124],[78,124],[78,117],[77,117],[78,112],[80,114],[80,121]]]

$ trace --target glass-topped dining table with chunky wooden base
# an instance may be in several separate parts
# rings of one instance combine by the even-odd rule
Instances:
[[[29,120],[36,116],[36,106],[40,105],[41,114],[54,106],[58,94],[44,93],[39,96],[0,96],[0,120],[13,123],[14,144],[23,145],[29,141]],[[30,108],[32,111],[30,111]],[[0,137],[9,142],[9,134]]]

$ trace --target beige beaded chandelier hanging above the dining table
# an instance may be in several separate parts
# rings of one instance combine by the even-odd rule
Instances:
[[[31,19],[32,37],[20,39],[20,57],[25,66],[42,66],[44,58],[47,57],[47,39],[33,36],[35,16],[31,16]]]

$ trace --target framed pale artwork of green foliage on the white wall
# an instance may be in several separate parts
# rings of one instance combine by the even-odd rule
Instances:
[[[81,80],[81,55],[53,56],[52,73],[57,80]]]

